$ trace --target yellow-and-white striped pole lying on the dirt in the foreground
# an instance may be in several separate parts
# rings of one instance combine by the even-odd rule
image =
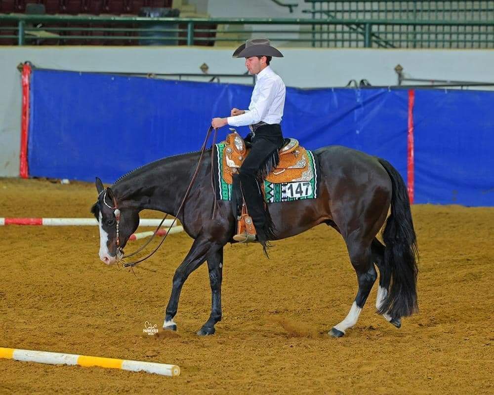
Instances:
[[[114,369],[130,370],[132,372],[148,372],[163,376],[180,375],[180,367],[166,363],[142,362],[127,359],[105,358],[101,356],[85,356],[75,354],[49,353],[46,351],[32,351],[8,349],[0,347],[0,358],[15,359],[25,362],[48,363],[50,365],[79,365],[99,366]]]

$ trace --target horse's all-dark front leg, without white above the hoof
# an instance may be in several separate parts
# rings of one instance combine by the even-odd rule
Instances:
[[[212,335],[214,325],[221,321],[221,280],[223,278],[223,247],[210,250],[206,256],[211,285],[211,315],[206,323],[197,332],[200,336]]]

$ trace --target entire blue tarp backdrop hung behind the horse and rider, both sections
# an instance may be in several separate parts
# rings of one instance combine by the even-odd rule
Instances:
[[[152,160],[197,151],[211,118],[247,108],[251,90],[34,70],[30,175],[111,183]],[[494,92],[416,92],[415,202],[494,205],[493,106]],[[288,88],[282,128],[309,149],[340,144],[386,158],[407,179],[405,89]]]

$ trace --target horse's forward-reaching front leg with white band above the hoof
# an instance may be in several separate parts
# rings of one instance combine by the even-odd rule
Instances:
[[[168,306],[166,306],[163,329],[177,330],[177,324],[173,321],[173,317],[177,314],[178,299],[180,298],[182,286],[187,277],[206,261],[206,254],[212,245],[214,244],[209,240],[200,237],[196,238],[184,261],[175,271],[170,300],[168,301]]]

